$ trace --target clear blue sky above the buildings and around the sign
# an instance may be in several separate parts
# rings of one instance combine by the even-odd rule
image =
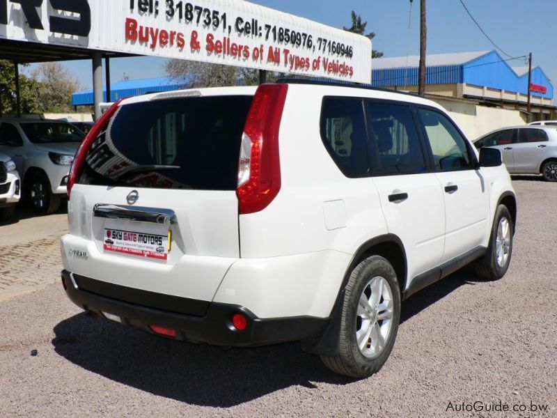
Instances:
[[[385,56],[407,53],[409,0],[252,0],[262,6],[307,17],[330,26],[350,25],[355,10],[376,33],[373,48]],[[557,0],[464,0],[470,12],[494,42],[511,56],[533,53],[557,86]],[[409,54],[419,54],[420,0],[412,6]],[[427,53],[443,54],[494,49],[462,8],[460,0],[427,0]],[[130,79],[164,75],[165,59],[136,57],[111,60],[111,80],[124,73]],[[65,63],[85,88],[91,88],[91,61]],[[524,59],[510,61],[525,65]]]

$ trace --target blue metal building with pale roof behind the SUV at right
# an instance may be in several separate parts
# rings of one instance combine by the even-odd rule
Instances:
[[[419,56],[374,59],[372,85],[417,91]],[[425,91],[470,98],[508,109],[526,110],[528,66],[511,67],[496,51],[433,54],[426,57]],[[526,65],[526,66],[524,66]],[[532,68],[531,111],[535,120],[551,118],[554,86],[542,68]]]

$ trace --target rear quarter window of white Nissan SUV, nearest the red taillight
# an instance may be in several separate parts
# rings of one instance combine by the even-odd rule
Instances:
[[[368,141],[361,100],[324,98],[321,137],[345,176],[368,176]]]

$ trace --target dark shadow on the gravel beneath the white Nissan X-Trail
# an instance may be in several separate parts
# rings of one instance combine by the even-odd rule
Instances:
[[[429,286],[402,304],[404,322],[456,288],[478,281],[462,271]],[[104,378],[193,405],[228,408],[291,386],[313,382],[346,385],[304,353],[299,343],[223,348],[171,341],[109,320],[78,314],[54,327],[54,350]]]

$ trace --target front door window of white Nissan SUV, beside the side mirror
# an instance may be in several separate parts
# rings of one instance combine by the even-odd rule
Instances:
[[[431,146],[435,169],[454,171],[473,168],[466,139],[458,132],[455,125],[438,111],[430,109],[418,111]]]

